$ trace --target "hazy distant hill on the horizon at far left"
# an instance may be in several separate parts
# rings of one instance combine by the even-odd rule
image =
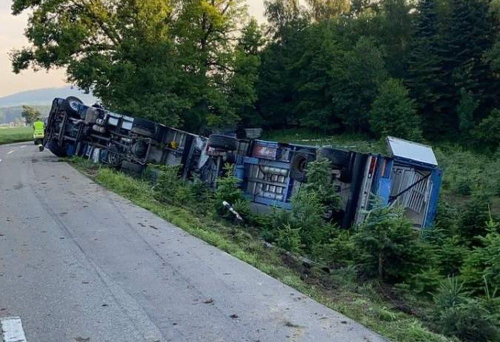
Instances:
[[[97,99],[89,94],[84,94],[77,88],[45,88],[37,90],[28,90],[25,92],[15,93],[0,98],[0,108],[14,106],[50,106],[52,100],[56,97],[66,98],[68,96],[76,96],[85,104],[94,104]]]

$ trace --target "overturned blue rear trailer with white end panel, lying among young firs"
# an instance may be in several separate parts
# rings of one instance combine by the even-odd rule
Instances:
[[[393,137],[387,144],[390,157],[256,140],[237,158],[235,173],[254,210],[289,209],[306,181],[307,163],[325,157],[331,161],[331,191],[342,200],[334,215],[341,226],[361,222],[378,198],[384,205],[401,205],[415,227],[430,227],[442,176],[432,149]]]

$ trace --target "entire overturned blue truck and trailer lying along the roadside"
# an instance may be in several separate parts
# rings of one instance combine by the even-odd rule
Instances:
[[[373,199],[400,205],[415,228],[433,224],[442,172],[432,148],[387,138],[390,156],[331,147],[237,139],[208,138],[164,125],[85,106],[77,98],[54,99],[43,145],[56,156],[77,155],[133,173],[147,165],[180,165],[185,179],[197,177],[210,186],[234,165],[234,175],[253,210],[289,209],[292,196],[307,182],[307,164],[326,158],[331,191],[341,207],[332,214],[342,227],[361,222]]]

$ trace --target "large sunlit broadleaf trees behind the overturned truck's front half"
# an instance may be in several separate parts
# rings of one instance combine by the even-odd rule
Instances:
[[[239,97],[237,105],[229,101],[235,69],[238,76],[256,72],[236,61],[241,25],[247,22],[240,1],[16,0],[12,5],[14,15],[28,10],[31,46],[12,54],[15,72],[66,67],[70,82],[106,106],[194,130],[232,124],[241,106],[251,106],[251,94]],[[254,24],[252,30],[259,28]],[[238,87],[245,87],[242,82],[251,86],[252,77],[240,77]]]

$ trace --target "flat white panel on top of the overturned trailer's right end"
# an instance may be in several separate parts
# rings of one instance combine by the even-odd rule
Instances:
[[[437,166],[436,156],[430,146],[394,137],[387,137],[387,145],[393,157]]]

